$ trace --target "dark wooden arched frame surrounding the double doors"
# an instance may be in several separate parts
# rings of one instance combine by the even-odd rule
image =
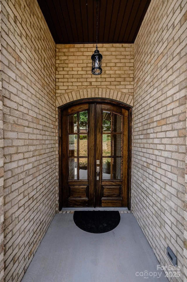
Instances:
[[[76,105],[81,105],[84,103],[91,103],[91,102],[96,102],[96,103],[106,103],[110,105],[116,105],[120,106],[122,108],[125,108],[128,113],[129,113],[129,122],[128,122],[128,187],[127,187],[127,207],[130,210],[131,209],[131,142],[132,142],[132,137],[131,137],[131,131],[132,131],[132,107],[113,100],[109,98],[84,98],[84,99],[79,99],[70,103],[66,103],[65,105],[59,107],[59,210],[62,210],[62,183],[63,183],[63,176],[62,176],[62,112],[72,106]]]

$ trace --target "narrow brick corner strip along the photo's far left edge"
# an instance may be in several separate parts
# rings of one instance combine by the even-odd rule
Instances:
[[[1,3],[0,3],[0,23],[1,23]],[[1,50],[1,25],[0,25],[0,50]],[[0,53],[1,62],[1,53]],[[4,201],[3,201],[3,184],[4,184],[4,157],[3,157],[3,102],[2,102],[2,79],[0,64],[0,282],[4,281]]]

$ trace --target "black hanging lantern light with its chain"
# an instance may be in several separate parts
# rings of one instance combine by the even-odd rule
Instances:
[[[102,59],[103,56],[99,53],[99,50],[97,49],[97,37],[98,37],[98,17],[97,17],[97,0],[96,0],[96,50],[94,51],[94,54],[91,56],[92,60],[92,74],[101,74],[102,73]]]

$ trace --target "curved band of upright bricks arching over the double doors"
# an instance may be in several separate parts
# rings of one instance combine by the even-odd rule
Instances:
[[[60,107],[66,103],[76,101],[84,98],[108,98],[113,99],[129,106],[133,106],[133,96],[114,89],[102,88],[102,87],[87,87],[83,89],[77,89],[67,93],[63,93],[56,97],[56,106]]]

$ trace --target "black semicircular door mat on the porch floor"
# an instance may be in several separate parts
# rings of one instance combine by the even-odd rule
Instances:
[[[120,223],[119,211],[85,210],[75,211],[73,220],[77,227],[89,233],[105,233]]]

